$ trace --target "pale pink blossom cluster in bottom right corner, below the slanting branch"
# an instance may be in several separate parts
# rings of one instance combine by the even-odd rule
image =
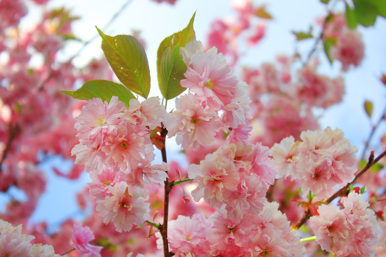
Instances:
[[[319,216],[310,218],[310,227],[323,250],[338,256],[375,256],[378,224],[374,211],[362,194],[351,192],[340,199],[343,209],[321,205]]]

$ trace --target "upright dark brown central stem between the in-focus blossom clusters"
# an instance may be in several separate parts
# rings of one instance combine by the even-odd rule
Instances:
[[[168,130],[166,128],[162,127],[161,130],[161,142],[163,144],[163,147],[161,149],[162,154],[162,161],[168,162],[166,159],[166,135],[168,134]],[[166,171],[166,173],[168,173]],[[169,182],[168,178],[166,178],[165,181],[165,195],[164,195],[164,220],[163,224],[159,224],[159,232],[161,233],[163,246],[164,246],[164,257],[171,257],[174,255],[173,252],[169,252],[169,243],[168,243],[168,216],[169,216],[169,195],[171,192],[171,189],[173,187],[173,183]]]

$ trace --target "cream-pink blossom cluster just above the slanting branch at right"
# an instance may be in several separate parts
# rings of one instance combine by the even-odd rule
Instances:
[[[319,200],[335,193],[354,179],[357,148],[343,137],[342,130],[305,131],[302,141],[293,137],[274,144],[270,154],[277,164],[278,177],[290,176],[300,181],[303,196],[311,191]]]

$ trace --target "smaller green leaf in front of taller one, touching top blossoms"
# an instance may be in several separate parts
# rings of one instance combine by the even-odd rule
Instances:
[[[173,49],[166,47],[161,57],[161,84],[159,89],[166,100],[179,96],[186,88],[180,85],[185,79],[187,66],[179,56],[178,44]]]

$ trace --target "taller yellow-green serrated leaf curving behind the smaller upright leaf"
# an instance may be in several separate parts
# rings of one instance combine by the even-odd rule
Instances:
[[[162,78],[163,73],[161,72],[161,59],[162,59],[163,53],[167,47],[171,47],[171,50],[174,51],[174,48],[177,48],[174,46],[178,45],[179,47],[184,47],[186,43],[188,43],[189,41],[192,41],[193,39],[196,39],[196,34],[193,29],[193,22],[194,22],[195,15],[196,15],[196,12],[191,17],[189,24],[185,27],[185,29],[166,37],[161,42],[161,44],[159,44],[159,47],[157,50],[157,78],[158,78],[158,85],[159,85],[159,89],[161,90],[161,93],[163,93],[163,89],[161,88],[162,79],[163,79]],[[164,95],[164,93],[163,93],[163,96],[166,99],[171,99],[171,98],[167,98],[167,96]]]

